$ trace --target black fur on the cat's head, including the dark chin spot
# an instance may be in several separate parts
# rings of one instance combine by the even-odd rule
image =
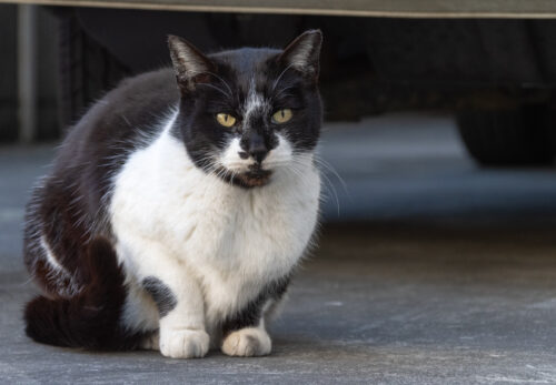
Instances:
[[[294,57],[306,47],[304,40],[307,39],[317,39],[315,51],[308,52],[307,65],[292,65]],[[309,31],[285,51],[244,48],[205,57],[189,42],[170,37],[176,77],[183,95],[180,101],[182,113],[173,134],[183,141],[197,166],[211,170],[210,155],[221,151],[234,136],[240,138],[240,145],[247,153],[255,153],[255,148],[259,153],[268,153],[278,144],[277,132],[284,132],[298,152],[311,151],[316,146],[321,125],[317,88],[320,39],[319,32]],[[203,75],[188,78],[188,64],[177,60],[179,55],[189,57],[190,62],[197,63],[189,65],[198,65],[191,72],[206,71]],[[244,120],[252,87],[266,103]],[[285,124],[272,123],[272,113],[286,108],[294,111],[292,119]],[[222,128],[215,119],[221,112],[236,116],[236,125]],[[259,186],[264,183],[257,181],[264,179],[266,182],[269,176],[259,171],[224,178],[242,188]]]

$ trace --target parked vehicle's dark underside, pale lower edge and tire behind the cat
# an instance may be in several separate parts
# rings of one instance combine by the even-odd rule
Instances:
[[[279,47],[320,28],[327,119],[447,109],[481,164],[548,164],[556,153],[556,2],[30,2],[68,6],[53,8],[67,123],[122,77],[168,63],[167,33],[210,51]]]

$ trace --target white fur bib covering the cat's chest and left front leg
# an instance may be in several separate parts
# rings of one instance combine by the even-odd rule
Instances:
[[[133,287],[153,275],[178,298],[158,321],[153,302],[135,293],[123,322],[133,330],[160,327],[162,354],[192,357],[208,349],[205,332],[219,344],[219,323],[298,263],[317,221],[320,179],[312,156],[294,161],[280,138],[265,160],[274,170],[270,183],[232,186],[193,165],[169,133],[175,119],[115,176],[110,214]],[[237,146],[230,143],[228,164]]]

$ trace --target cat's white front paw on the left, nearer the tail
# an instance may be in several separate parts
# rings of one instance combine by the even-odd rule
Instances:
[[[170,330],[160,332],[160,353],[171,358],[198,358],[207,354],[209,335],[201,330]]]

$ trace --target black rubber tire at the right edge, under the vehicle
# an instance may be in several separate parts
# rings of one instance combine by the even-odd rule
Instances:
[[[556,113],[545,104],[457,113],[459,134],[470,155],[485,166],[552,165]]]

